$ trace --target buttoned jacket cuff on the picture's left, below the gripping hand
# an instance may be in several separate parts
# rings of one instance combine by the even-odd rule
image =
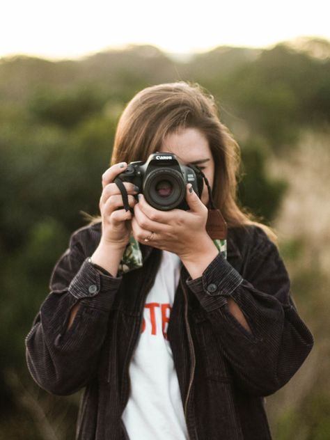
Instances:
[[[110,310],[122,278],[102,274],[89,261],[89,258],[86,258],[79,272],[72,279],[68,290],[76,299],[89,299],[90,306]]]

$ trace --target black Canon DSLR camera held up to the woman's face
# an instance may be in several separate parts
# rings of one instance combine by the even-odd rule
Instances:
[[[185,200],[187,183],[192,184],[199,198],[203,190],[198,167],[180,164],[171,152],[155,152],[147,162],[130,162],[118,178],[139,187],[149,205],[161,211],[189,210]]]

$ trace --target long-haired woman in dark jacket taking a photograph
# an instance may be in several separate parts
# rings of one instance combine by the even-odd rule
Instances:
[[[154,152],[202,168],[212,194],[187,184],[189,209],[163,211],[125,182],[123,209],[114,180]],[[153,86],[127,105],[101,217],[72,234],[26,338],[42,388],[86,387],[77,439],[271,439],[263,397],[294,375],[313,336],[274,233],[237,206],[238,158],[199,86]],[[207,233],[210,197],[227,242]]]

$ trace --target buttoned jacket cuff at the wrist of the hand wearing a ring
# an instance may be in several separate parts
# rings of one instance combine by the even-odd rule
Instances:
[[[219,253],[207,266],[202,276],[194,280],[189,276],[186,283],[200,301],[201,306],[210,312],[227,304],[226,298],[242,281],[243,278],[239,272]]]

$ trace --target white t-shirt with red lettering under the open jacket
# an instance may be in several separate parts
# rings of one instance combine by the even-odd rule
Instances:
[[[166,339],[180,258],[168,251],[146,297],[143,324],[129,364],[131,391],[123,423],[131,440],[188,439],[173,354]]]

